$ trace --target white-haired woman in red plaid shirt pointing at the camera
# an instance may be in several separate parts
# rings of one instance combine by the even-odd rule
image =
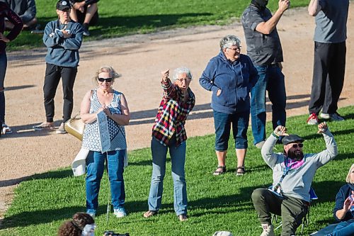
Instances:
[[[164,97],[161,100],[154,126],[152,127],[152,184],[149,193],[149,210],[144,218],[156,215],[161,207],[163,182],[166,172],[167,150],[171,156],[174,209],[178,219],[187,220],[187,186],[185,184],[185,120],[195,105],[195,96],[190,90],[190,70],[175,69],[174,82],[169,79],[169,69],[161,72]]]

